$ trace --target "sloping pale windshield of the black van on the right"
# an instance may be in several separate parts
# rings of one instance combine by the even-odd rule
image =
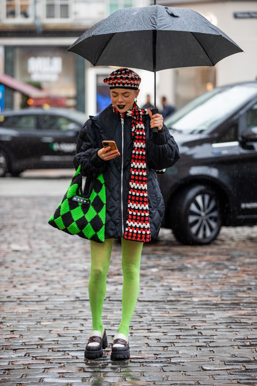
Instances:
[[[202,132],[235,112],[257,95],[256,86],[216,88],[196,98],[164,120],[168,128],[185,133]]]

